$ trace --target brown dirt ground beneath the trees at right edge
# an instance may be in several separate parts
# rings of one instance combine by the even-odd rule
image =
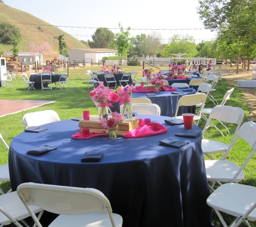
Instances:
[[[252,65],[251,65],[252,66]],[[227,80],[227,83],[232,84],[237,87],[238,80],[251,80],[252,70],[247,71],[246,69],[241,69],[239,66],[239,74],[236,74],[236,66],[222,66],[222,77]],[[251,109],[249,113],[250,120],[254,121],[256,119],[256,88],[241,88],[244,94],[244,101],[248,103]]]

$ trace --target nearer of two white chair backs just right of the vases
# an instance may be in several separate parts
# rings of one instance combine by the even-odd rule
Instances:
[[[159,105],[153,103],[132,103],[132,111],[142,115],[161,115]]]

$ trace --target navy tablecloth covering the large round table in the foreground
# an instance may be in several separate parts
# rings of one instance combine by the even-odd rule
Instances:
[[[180,138],[189,145],[170,148],[159,140],[174,137],[183,125],[170,126],[170,117],[139,115],[168,128],[164,134],[128,139],[108,136],[73,139],[79,130],[75,120],[43,125],[39,133],[22,132],[10,144],[9,171],[12,190],[20,183],[34,182],[96,188],[109,199],[113,212],[123,217],[123,227],[211,226],[210,195],[197,138]],[[193,125],[194,130],[199,127]],[[58,147],[43,155],[26,151],[42,145]],[[99,162],[81,162],[86,151],[103,151]]]

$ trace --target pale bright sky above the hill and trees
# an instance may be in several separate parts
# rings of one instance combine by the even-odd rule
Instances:
[[[199,20],[196,13],[198,0],[44,0],[40,3],[4,0],[4,3],[59,26],[59,29],[85,41],[91,40],[97,27],[119,32],[119,22],[124,29],[130,26],[132,36],[157,31],[162,35],[162,43],[167,43],[174,34],[193,36],[196,43],[215,38],[215,33],[204,30]]]

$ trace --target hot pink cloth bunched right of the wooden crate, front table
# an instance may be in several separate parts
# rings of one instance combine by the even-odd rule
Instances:
[[[149,123],[142,127],[137,127],[132,131],[123,134],[123,137],[126,138],[139,138],[139,137],[147,137],[147,136],[154,136],[157,134],[162,134],[167,132],[167,128],[164,127],[162,124],[159,123]]]

